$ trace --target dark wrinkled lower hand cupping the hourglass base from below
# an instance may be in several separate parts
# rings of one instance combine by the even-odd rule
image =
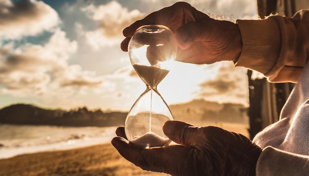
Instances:
[[[180,144],[140,148],[125,139],[124,128],[116,130],[112,144],[119,153],[144,170],[173,176],[254,176],[262,149],[243,135],[214,126],[194,127],[167,121],[163,131]]]

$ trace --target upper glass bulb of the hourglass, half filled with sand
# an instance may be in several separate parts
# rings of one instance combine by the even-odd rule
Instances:
[[[167,75],[176,59],[177,44],[173,32],[162,25],[137,29],[128,45],[131,63],[151,88]]]

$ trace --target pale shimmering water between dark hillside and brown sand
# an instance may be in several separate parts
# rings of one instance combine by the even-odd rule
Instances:
[[[64,127],[0,124],[0,159],[109,143],[116,127]]]

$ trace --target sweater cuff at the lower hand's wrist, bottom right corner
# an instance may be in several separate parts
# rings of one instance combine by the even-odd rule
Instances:
[[[256,176],[306,176],[309,157],[273,147],[263,149],[256,167]]]

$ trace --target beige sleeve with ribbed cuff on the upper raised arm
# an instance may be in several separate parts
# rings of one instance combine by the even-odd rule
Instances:
[[[298,81],[309,57],[309,10],[237,24],[243,48],[236,66],[259,71],[271,82]]]

